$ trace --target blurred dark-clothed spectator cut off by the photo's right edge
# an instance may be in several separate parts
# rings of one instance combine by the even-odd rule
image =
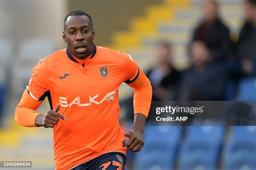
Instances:
[[[239,35],[237,55],[246,60],[249,70],[253,70],[252,63],[256,63],[256,0],[244,0],[243,7],[246,21]]]

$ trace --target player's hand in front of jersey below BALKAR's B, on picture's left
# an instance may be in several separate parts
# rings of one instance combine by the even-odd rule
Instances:
[[[62,120],[67,120],[66,117],[58,113],[59,109],[60,104],[57,105],[54,110],[48,110],[46,115],[44,115],[44,128],[53,128],[55,125],[57,125],[57,122],[59,122],[59,118],[61,118]]]

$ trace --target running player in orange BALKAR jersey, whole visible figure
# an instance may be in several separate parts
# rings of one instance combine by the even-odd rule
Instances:
[[[69,13],[67,48],[40,59],[15,109],[20,125],[53,128],[56,170],[124,170],[127,148],[144,145],[150,82],[130,55],[96,46],[94,37],[90,15]],[[134,125],[125,133],[118,121],[122,82],[134,89]],[[46,96],[51,110],[43,115],[36,109]]]

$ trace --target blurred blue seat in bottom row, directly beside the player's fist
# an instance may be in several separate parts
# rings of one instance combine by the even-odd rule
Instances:
[[[170,170],[174,169],[176,153],[182,134],[179,126],[146,125],[145,145],[136,153],[136,170]]]

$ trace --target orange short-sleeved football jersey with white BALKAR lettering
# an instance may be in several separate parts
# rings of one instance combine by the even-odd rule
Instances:
[[[118,88],[138,74],[130,55],[95,45],[84,61],[68,48],[40,59],[27,90],[36,100],[48,96],[51,109],[60,103],[59,113],[67,118],[53,128],[56,170],[74,168],[111,151],[126,153],[118,121]]]

